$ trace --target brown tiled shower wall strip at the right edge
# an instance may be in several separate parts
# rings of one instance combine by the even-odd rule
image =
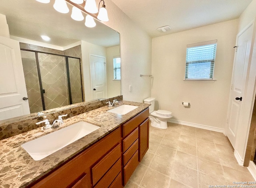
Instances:
[[[252,120],[250,125],[249,137],[246,147],[244,166],[248,166],[250,160],[254,160],[256,150],[256,100],[252,111]]]

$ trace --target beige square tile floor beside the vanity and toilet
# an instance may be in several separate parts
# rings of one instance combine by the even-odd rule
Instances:
[[[208,188],[254,181],[223,133],[168,123],[150,127],[150,147],[125,188]],[[256,184],[251,184],[256,185]]]

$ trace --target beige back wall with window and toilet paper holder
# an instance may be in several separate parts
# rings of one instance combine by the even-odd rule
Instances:
[[[238,20],[222,22],[152,40],[152,97],[174,120],[224,129]],[[184,83],[186,45],[218,40],[214,83]],[[185,108],[182,102],[190,102]]]

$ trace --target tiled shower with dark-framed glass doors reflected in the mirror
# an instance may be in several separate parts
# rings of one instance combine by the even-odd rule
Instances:
[[[21,45],[21,56],[30,113],[84,101],[80,46],[62,54],[27,46]]]

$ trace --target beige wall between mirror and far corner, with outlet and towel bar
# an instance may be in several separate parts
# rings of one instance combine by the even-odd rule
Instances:
[[[150,79],[140,77],[140,74],[151,73],[151,38],[112,1],[109,0],[105,4],[109,22],[104,24],[120,33],[123,99],[143,102],[151,93]],[[129,85],[132,85],[132,91],[129,91]]]

